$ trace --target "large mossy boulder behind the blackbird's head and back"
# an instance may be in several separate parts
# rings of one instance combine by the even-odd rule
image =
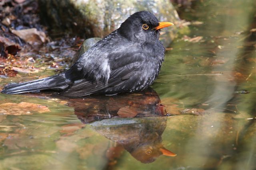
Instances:
[[[147,10],[159,21],[178,24],[180,19],[170,1],[74,1],[38,0],[40,16],[52,30],[68,31],[83,38],[104,37],[117,29],[134,12]],[[163,29],[161,41],[168,46],[176,35],[176,27]]]

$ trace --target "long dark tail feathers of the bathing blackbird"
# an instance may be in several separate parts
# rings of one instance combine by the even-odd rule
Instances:
[[[33,80],[24,83],[7,84],[2,93],[4,94],[20,94],[27,92],[40,92],[41,90],[64,90],[68,87],[65,74],[56,74],[54,76]]]

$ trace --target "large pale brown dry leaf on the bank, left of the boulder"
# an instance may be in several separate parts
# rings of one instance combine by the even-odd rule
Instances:
[[[38,31],[36,28],[21,30],[12,29],[12,33],[31,45],[40,45],[48,41],[46,34],[42,31]]]

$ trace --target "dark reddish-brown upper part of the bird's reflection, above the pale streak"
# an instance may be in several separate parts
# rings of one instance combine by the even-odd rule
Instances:
[[[152,88],[134,94],[86,96],[83,99],[68,98],[68,106],[74,107],[75,114],[83,123],[92,123],[111,117],[164,115],[164,108],[159,105],[160,98]]]

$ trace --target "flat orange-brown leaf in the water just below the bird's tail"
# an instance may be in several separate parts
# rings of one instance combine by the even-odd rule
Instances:
[[[30,111],[36,111],[38,113],[45,113],[50,111],[48,107],[40,104],[33,104],[28,102],[16,103],[4,103],[0,104],[0,114],[3,115],[31,115]]]

